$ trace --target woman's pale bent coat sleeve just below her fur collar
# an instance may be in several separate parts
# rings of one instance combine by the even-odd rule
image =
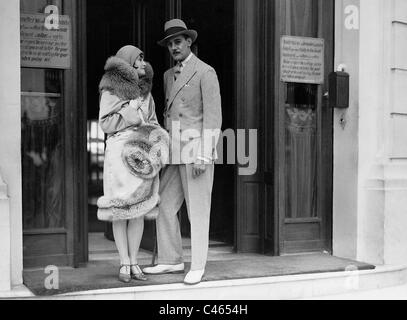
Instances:
[[[138,126],[141,122],[137,109],[130,106],[130,101],[120,100],[108,91],[102,92],[99,124],[103,132],[116,133],[131,126]]]

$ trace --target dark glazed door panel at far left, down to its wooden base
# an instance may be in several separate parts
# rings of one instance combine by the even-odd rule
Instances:
[[[58,32],[45,25],[45,14],[49,14],[46,8],[50,5],[54,6],[52,9],[57,7],[59,15],[63,14],[62,0],[20,0],[24,27],[21,154],[25,268],[67,265],[71,261],[66,212],[65,70],[42,62],[34,66],[23,60],[53,53],[46,47],[50,34],[56,39],[53,32]],[[38,21],[27,24],[30,19],[44,20],[44,26]]]

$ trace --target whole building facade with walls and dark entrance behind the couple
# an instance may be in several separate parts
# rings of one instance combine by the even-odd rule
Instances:
[[[9,0],[0,16],[0,290],[24,268],[87,261],[104,62],[142,48],[162,117],[171,61],[156,41],[175,17],[198,30],[223,129],[246,142],[217,166],[211,237],[237,252],[407,263],[404,0]],[[334,71],[349,74],[348,108],[330,102]]]

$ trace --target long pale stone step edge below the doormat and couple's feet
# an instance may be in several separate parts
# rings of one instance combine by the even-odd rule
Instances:
[[[318,299],[368,292],[407,284],[407,266],[379,266],[375,270],[290,275],[267,278],[154,285],[75,292],[27,299],[131,300],[288,300]],[[20,297],[21,298],[21,297]]]

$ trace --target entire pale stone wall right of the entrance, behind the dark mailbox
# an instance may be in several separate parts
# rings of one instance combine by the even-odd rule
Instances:
[[[335,27],[351,92],[334,115],[334,254],[407,264],[407,1],[337,1]]]

